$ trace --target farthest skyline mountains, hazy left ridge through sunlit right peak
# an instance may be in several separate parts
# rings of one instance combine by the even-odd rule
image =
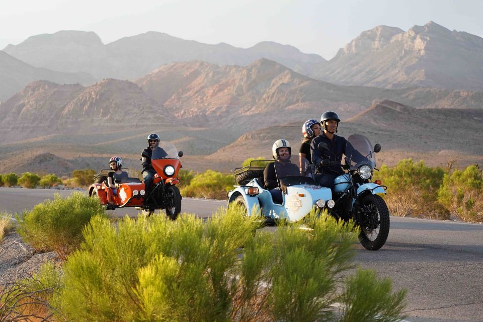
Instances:
[[[98,80],[133,79],[173,62],[200,60],[220,66],[247,66],[267,58],[339,85],[483,91],[483,38],[450,31],[432,21],[407,32],[388,26],[364,31],[330,61],[270,41],[237,48],[153,31],[106,45],[94,32],[59,31],[8,45],[4,52],[36,67],[86,72]]]

